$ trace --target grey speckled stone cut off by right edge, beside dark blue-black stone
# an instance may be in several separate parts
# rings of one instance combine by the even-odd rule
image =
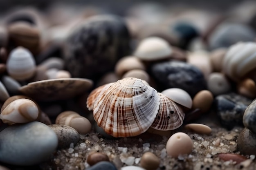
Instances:
[[[246,128],[256,133],[256,99],[245,109],[243,124]]]

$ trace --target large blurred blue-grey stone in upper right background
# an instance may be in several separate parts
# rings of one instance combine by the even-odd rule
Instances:
[[[209,47],[211,50],[221,47],[228,48],[236,42],[254,42],[256,37],[255,31],[244,24],[221,24],[210,36]]]

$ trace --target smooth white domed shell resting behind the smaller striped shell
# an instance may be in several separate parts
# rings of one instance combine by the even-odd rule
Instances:
[[[161,93],[177,104],[185,106],[186,108],[192,108],[193,101],[191,96],[181,88],[168,88]]]

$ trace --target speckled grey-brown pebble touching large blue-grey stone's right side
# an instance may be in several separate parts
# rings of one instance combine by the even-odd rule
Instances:
[[[58,148],[69,148],[70,144],[77,144],[79,133],[72,127],[62,124],[48,125],[58,136]]]

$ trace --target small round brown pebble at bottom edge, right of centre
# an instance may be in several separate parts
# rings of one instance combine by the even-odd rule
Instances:
[[[156,170],[159,167],[160,160],[152,152],[145,152],[140,159],[140,166],[146,170]]]

